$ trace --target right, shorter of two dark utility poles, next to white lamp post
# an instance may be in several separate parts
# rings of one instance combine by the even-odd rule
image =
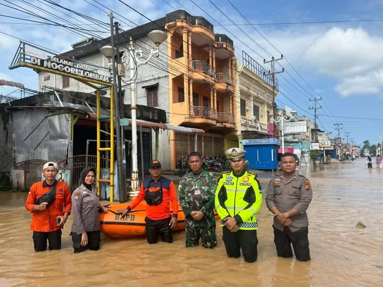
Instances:
[[[118,37],[118,22],[114,22],[114,29],[116,33],[116,63],[117,63],[117,81],[118,81],[118,101],[119,101],[119,110],[120,110],[120,118],[124,118],[124,110],[125,110],[125,103],[122,96],[122,81],[121,81],[121,73],[122,70],[124,71],[125,68],[123,64],[121,63],[121,59],[119,56],[119,37]],[[123,69],[122,69],[123,67]],[[123,76],[123,75],[122,75]],[[125,134],[124,134],[124,128],[121,126],[121,159],[122,159],[122,185],[120,186],[120,189],[123,190],[123,201],[120,200],[120,202],[127,201],[127,193],[126,193],[126,159],[125,159]],[[119,173],[119,171],[118,171]],[[118,181],[118,184],[120,184],[120,181]]]

